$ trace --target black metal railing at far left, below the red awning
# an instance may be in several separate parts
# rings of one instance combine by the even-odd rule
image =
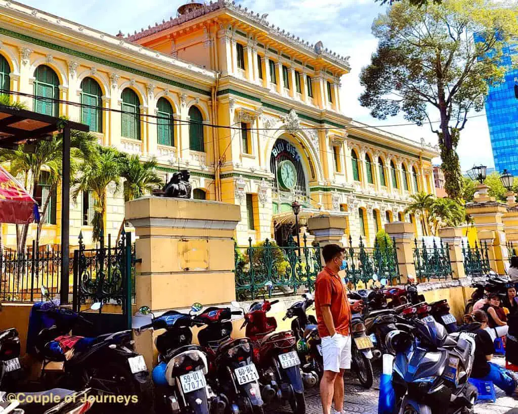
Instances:
[[[61,246],[38,246],[36,241],[33,241],[32,246],[21,254],[16,249],[1,248],[0,301],[41,301],[42,285],[49,289],[52,298],[59,298],[61,258]],[[68,277],[71,278],[72,260],[70,260],[68,273]]]

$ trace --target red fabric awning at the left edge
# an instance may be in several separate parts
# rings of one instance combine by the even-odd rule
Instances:
[[[0,223],[30,224],[35,218],[39,220],[36,201],[0,166]]]

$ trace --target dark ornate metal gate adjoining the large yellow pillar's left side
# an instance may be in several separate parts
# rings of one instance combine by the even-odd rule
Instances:
[[[86,249],[79,234],[79,249],[74,251],[74,310],[94,323],[97,334],[131,328],[132,278],[134,255],[131,234],[121,234],[116,245],[99,245]],[[101,302],[98,312],[88,312],[91,305]]]

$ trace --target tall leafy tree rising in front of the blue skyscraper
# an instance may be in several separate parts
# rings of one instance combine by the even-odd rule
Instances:
[[[438,137],[445,189],[460,198],[459,133],[468,113],[482,110],[487,82],[503,79],[498,64],[502,46],[518,36],[518,6],[510,0],[412,3],[394,3],[373,22],[378,49],[362,70],[359,101],[378,119],[403,112],[418,125],[428,122]]]

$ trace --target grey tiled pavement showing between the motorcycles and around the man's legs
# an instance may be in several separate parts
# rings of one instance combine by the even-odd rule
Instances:
[[[495,358],[495,362],[498,359]],[[347,412],[357,412],[365,414],[377,414],[378,412],[378,393],[379,393],[379,378],[380,366],[374,365],[375,382],[371,389],[366,390],[359,385],[357,380],[349,374],[344,377],[345,381],[345,396],[343,408]],[[513,410],[514,409],[514,410]],[[289,407],[277,409],[275,411],[268,411],[268,414],[274,413],[290,413]],[[322,414],[322,405],[320,404],[320,394],[318,389],[311,389],[306,392],[306,413],[307,414]],[[491,414],[518,414],[518,400],[506,396],[505,393],[497,389],[496,403],[492,404],[477,404],[475,407],[476,414],[491,413]]]

